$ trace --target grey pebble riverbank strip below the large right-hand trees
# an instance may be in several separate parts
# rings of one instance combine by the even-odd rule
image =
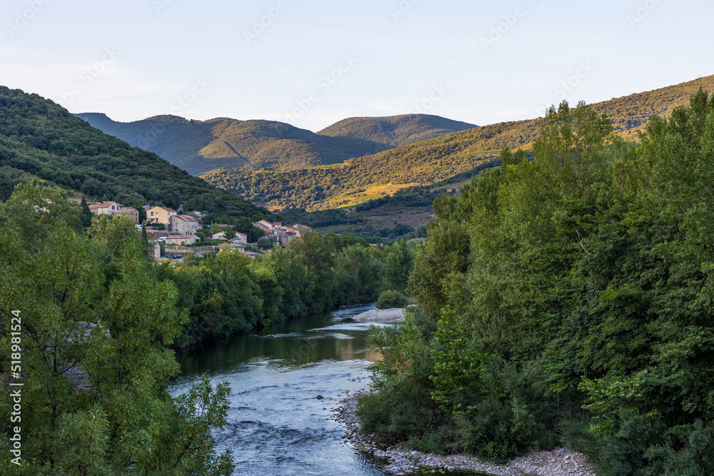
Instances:
[[[388,475],[408,475],[421,470],[449,472],[471,470],[493,476],[594,476],[595,472],[580,453],[555,448],[550,451],[535,451],[517,457],[507,465],[494,465],[476,457],[465,455],[441,456],[433,453],[405,450],[404,443],[393,447],[379,447],[371,436],[361,435],[360,422],[356,415],[357,402],[364,391],[352,393],[338,402],[333,418],[346,427],[343,438],[356,447],[363,447],[378,458],[387,459],[384,471]]]

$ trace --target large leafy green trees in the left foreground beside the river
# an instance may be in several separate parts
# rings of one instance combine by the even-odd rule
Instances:
[[[3,458],[3,475],[233,471],[211,435],[225,424],[227,386],[204,379],[188,395],[166,393],[178,373],[169,350],[182,325],[177,289],[156,280],[133,228],[129,218],[102,216],[88,234],[81,208],[49,187],[17,186],[0,204],[0,373],[9,375],[19,309],[24,378],[22,465]],[[69,380],[73,369],[89,390]],[[11,426],[0,422],[6,455]]]

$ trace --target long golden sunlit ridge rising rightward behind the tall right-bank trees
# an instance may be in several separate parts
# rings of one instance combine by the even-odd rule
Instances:
[[[615,131],[636,138],[650,116],[668,116],[703,88],[714,91],[714,76],[655,91],[593,104],[613,121]],[[352,206],[414,186],[448,181],[459,173],[496,166],[503,148],[528,148],[538,138],[542,118],[477,127],[429,141],[354,158],[341,166],[301,171],[253,173],[212,171],[206,181],[273,210],[308,211]],[[334,133],[334,132],[333,132]]]

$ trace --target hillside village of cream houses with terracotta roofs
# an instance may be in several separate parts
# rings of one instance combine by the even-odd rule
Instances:
[[[126,215],[134,221],[137,231],[146,232],[146,237],[154,243],[156,260],[182,260],[188,253],[201,258],[201,253],[223,250],[237,250],[251,258],[260,256],[261,248],[270,249],[273,245],[285,248],[288,243],[300,238],[310,230],[307,226],[293,226],[261,220],[253,223],[262,238],[249,243],[248,235],[236,231],[225,223],[203,223],[204,213],[186,212],[183,206],[178,210],[164,206],[143,206],[132,208],[115,201],[104,201],[89,205],[92,214],[121,216]],[[262,242],[262,243],[261,243]],[[258,245],[261,245],[260,248]]]

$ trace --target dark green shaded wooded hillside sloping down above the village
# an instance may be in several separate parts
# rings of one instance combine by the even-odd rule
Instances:
[[[38,178],[126,206],[183,204],[233,217],[266,213],[154,153],[102,133],[52,101],[0,86],[0,192]]]

